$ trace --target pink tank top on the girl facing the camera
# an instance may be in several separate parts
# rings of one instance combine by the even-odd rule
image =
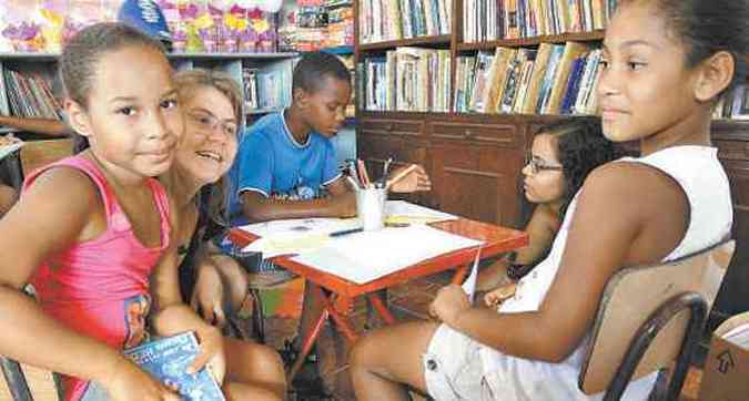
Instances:
[[[161,216],[161,246],[146,248],[135,237],[104,175],[87,158],[73,156],[38,169],[26,179],[23,189],[44,171],[59,166],[79,169],[97,185],[107,212],[107,230],[47,259],[31,280],[37,298],[47,313],[82,335],[120,350],[136,346],[146,337],[149,276],[169,246],[166,193],[156,179],[146,181]],[[79,400],[88,387],[77,378],[67,377],[63,382],[65,400]]]

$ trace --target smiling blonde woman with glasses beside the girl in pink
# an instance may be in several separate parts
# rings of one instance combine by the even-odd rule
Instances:
[[[221,71],[181,71],[174,82],[185,128],[172,167],[159,178],[180,216],[180,291],[209,323],[223,326],[226,304],[239,308],[247,292],[247,278],[236,261],[211,251],[210,238],[216,228],[226,226],[225,174],[236,155],[244,103],[237,84]],[[223,348],[224,387],[250,399],[285,395],[281,357],[273,349],[232,338],[224,338]]]

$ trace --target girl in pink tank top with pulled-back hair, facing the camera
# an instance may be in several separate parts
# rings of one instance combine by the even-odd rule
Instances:
[[[151,273],[171,249],[174,216],[152,177],[170,168],[183,130],[173,71],[159,42],[117,23],[71,38],[60,68],[69,123],[90,147],[29,174],[0,219],[12,255],[0,260],[0,354],[65,374],[65,400],[90,400],[89,389],[179,400],[121,353],[146,336]],[[169,282],[153,282],[154,309],[169,309]]]

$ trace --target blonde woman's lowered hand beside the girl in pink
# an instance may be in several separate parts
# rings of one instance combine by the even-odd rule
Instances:
[[[210,263],[200,264],[190,306],[206,323],[223,328],[226,325],[223,305],[224,285],[219,270]]]

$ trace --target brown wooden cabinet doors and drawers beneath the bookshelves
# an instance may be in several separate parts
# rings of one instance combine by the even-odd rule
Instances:
[[[396,120],[360,117],[357,153],[375,176],[393,156],[419,163],[433,191],[403,198],[448,213],[519,227],[524,207],[520,169],[525,162],[524,124],[477,122],[469,117]],[[397,195],[395,196],[397,198]]]

